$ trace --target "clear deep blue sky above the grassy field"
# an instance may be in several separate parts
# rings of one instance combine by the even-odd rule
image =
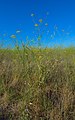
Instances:
[[[36,40],[34,24],[39,19],[43,19],[41,31],[45,29],[42,45],[75,45],[75,0],[0,0],[0,42],[11,44],[12,34],[19,42],[26,36]]]

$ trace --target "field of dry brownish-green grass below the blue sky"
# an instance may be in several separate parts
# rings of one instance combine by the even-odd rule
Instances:
[[[0,49],[0,120],[75,120],[75,47]]]

